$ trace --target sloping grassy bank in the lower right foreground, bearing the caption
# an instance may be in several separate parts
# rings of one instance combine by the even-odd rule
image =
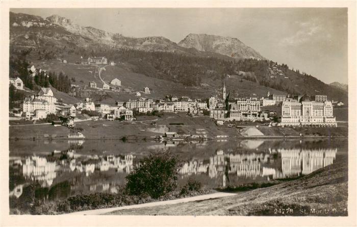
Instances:
[[[297,180],[236,196],[177,205],[121,210],[114,215],[347,216],[347,157]]]

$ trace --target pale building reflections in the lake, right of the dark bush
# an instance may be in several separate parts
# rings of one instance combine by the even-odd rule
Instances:
[[[224,153],[218,150],[216,155],[205,160],[187,161],[180,169],[184,176],[208,174],[210,178],[226,177],[256,179],[258,177],[282,179],[308,175],[319,168],[332,164],[336,158],[337,149],[269,149],[268,152]]]

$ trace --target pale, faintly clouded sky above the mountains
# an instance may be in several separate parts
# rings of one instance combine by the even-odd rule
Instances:
[[[347,8],[90,8],[11,9],[53,14],[129,37],[190,33],[238,38],[265,58],[322,80],[348,83]]]

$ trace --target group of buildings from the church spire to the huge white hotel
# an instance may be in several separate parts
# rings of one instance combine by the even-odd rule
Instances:
[[[268,120],[269,112],[261,110],[261,105],[276,105],[279,126],[336,127],[333,104],[326,95],[295,96],[267,94],[267,98],[231,99],[226,95],[223,80],[223,97],[209,99],[210,117],[218,124],[225,121],[262,121]]]

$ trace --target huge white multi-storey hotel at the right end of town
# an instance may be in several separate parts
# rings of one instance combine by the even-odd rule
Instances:
[[[311,101],[308,95],[300,102],[284,101],[278,108],[278,115],[281,126],[337,126],[332,103]]]

